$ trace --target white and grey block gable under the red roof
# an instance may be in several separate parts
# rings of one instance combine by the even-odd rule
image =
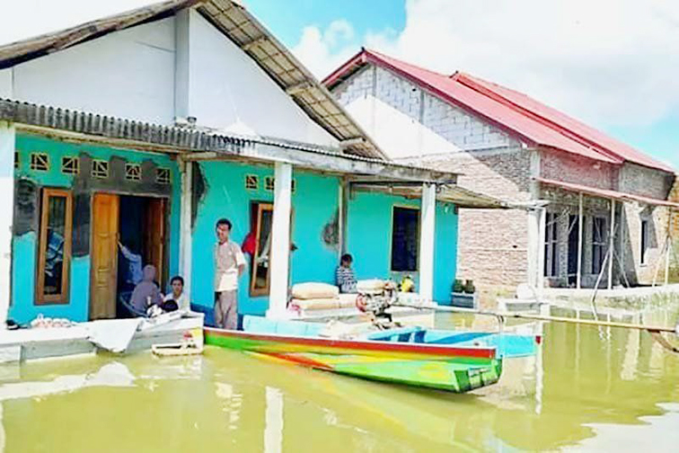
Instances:
[[[393,159],[517,146],[503,131],[370,65],[333,90]]]

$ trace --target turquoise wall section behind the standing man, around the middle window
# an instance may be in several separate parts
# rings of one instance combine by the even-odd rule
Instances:
[[[272,202],[273,192],[267,191],[264,181],[273,176],[273,168],[226,162],[198,164],[206,191],[198,205],[193,225],[193,275],[191,298],[209,314],[214,304],[216,243],[215,224],[219,218],[229,218],[234,227],[232,240],[242,244],[251,225],[251,202]],[[259,176],[257,190],[245,189],[246,175]],[[292,253],[291,281],[334,281],[338,260],[337,246],[325,244],[323,229],[331,222],[338,209],[339,180],[314,173],[294,173],[292,238],[297,249]],[[246,254],[250,262],[251,257]],[[269,307],[268,297],[250,296],[250,272],[239,281],[238,308],[243,315],[264,315]]]

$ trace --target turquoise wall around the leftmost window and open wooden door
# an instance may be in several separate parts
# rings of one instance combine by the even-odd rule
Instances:
[[[74,176],[61,173],[61,157],[76,156],[81,153],[93,158],[110,160],[118,156],[131,163],[152,160],[155,164],[171,169],[172,199],[170,203],[170,239],[169,239],[169,271],[177,273],[179,264],[179,231],[180,231],[180,194],[181,178],[178,165],[168,156],[155,153],[144,153],[110,147],[73,144],[49,138],[29,135],[18,135],[16,150],[19,154],[19,167],[14,170],[15,179],[27,178],[41,187],[71,188]],[[48,172],[37,172],[30,169],[32,152],[46,152],[49,155]],[[35,274],[37,264],[37,233],[29,232],[13,238],[12,268],[12,305],[9,316],[19,323],[26,323],[42,314],[45,316],[66,317],[73,321],[86,321],[90,298],[90,256],[74,257],[71,264],[70,299],[68,304],[34,305]]]

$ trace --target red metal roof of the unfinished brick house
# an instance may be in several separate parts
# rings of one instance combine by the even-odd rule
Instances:
[[[392,70],[445,101],[483,117],[530,145],[559,149],[611,164],[628,161],[674,173],[669,165],[658,162],[542,102],[461,72],[446,76],[374,50],[362,49],[326,77],[323,83],[332,88],[368,63]]]

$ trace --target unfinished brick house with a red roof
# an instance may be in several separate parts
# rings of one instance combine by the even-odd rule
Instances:
[[[324,84],[394,161],[528,209],[461,209],[458,276],[593,288],[662,281],[675,171],[523,93],[362,49]]]

